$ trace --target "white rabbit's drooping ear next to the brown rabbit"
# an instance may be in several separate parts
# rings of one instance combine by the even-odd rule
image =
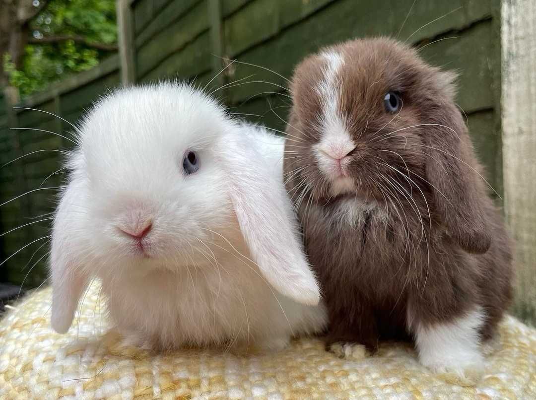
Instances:
[[[277,291],[316,305],[318,285],[303,254],[281,168],[270,168],[251,140],[255,139],[226,135],[220,146],[242,235],[260,273]]]

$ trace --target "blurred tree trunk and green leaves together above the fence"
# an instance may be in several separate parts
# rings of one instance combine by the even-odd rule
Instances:
[[[0,4],[2,18],[10,18],[0,28],[3,75],[18,88],[21,98],[72,73],[91,69],[117,51],[114,0]]]

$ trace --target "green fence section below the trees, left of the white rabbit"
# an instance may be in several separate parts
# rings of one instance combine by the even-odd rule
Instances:
[[[120,84],[117,57],[103,62],[101,70],[69,78],[67,82],[54,85],[48,93],[21,103],[20,107],[53,113],[75,123],[95,99]],[[3,105],[0,110],[5,112],[7,106]],[[18,285],[24,283],[26,287],[38,286],[47,278],[51,227],[48,218],[56,206],[56,188],[64,182],[64,174],[58,172],[62,168],[62,151],[71,145],[68,140],[49,132],[69,137],[73,130],[68,123],[47,113],[19,109],[16,110],[17,125],[13,128],[25,129],[9,130],[0,126],[2,165],[29,154],[0,168],[0,202],[35,190],[0,208],[1,233],[32,223],[0,237],[2,260],[11,256],[0,266],[0,279]],[[0,118],[3,115],[0,114]]]

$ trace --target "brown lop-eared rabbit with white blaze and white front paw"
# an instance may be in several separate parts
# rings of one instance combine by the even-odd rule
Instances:
[[[284,168],[329,309],[327,345],[414,339],[423,365],[464,375],[510,303],[512,257],[454,79],[385,38],[307,57]]]

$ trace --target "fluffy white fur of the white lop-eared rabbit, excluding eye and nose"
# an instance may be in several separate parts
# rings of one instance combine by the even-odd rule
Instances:
[[[79,142],[53,228],[55,330],[69,329],[94,277],[117,327],[140,344],[279,349],[323,328],[281,138],[230,120],[189,86],[159,84],[108,95]],[[199,158],[191,175],[188,151]],[[120,228],[148,220],[139,250]]]

